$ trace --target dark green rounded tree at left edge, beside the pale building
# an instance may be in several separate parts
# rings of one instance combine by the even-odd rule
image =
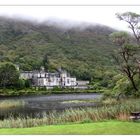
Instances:
[[[9,62],[0,64],[0,86],[13,87],[19,80],[19,72],[15,65]]]

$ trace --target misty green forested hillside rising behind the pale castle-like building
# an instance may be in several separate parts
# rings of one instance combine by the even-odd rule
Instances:
[[[113,66],[115,46],[109,35],[114,31],[102,25],[66,29],[1,17],[0,61],[13,62],[22,70],[39,69],[47,54],[50,71],[62,67],[77,78],[90,80],[99,69]]]

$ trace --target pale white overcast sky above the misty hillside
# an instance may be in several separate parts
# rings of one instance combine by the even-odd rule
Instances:
[[[66,20],[107,25],[116,29],[128,30],[128,25],[119,21],[115,13],[136,12],[140,6],[1,6],[0,15],[25,18],[43,22],[45,20]]]

